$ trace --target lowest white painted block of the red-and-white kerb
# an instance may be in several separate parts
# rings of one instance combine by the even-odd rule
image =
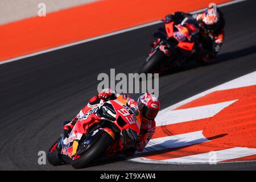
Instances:
[[[255,155],[256,148],[235,147],[220,151],[214,151],[216,158],[212,158],[213,153],[208,152],[204,154],[197,154],[191,156],[184,156],[181,158],[166,159],[162,162],[168,163],[209,163],[209,162],[221,162],[224,160],[237,159],[245,156]]]

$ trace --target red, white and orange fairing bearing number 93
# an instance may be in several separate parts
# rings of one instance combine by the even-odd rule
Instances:
[[[61,154],[68,156],[69,158],[72,158],[76,155],[77,148],[79,146],[79,140],[82,138],[82,136],[88,132],[88,129],[90,126],[92,126],[94,123],[99,121],[92,122],[91,114],[100,112],[100,110],[105,110],[105,114],[109,114],[112,118],[115,118],[115,121],[113,119],[106,117],[106,115],[99,115],[99,117],[102,117],[102,119],[108,119],[109,121],[115,123],[116,126],[119,127],[120,130],[125,130],[127,138],[131,138],[132,140],[136,140],[138,138],[139,132],[140,132],[140,126],[141,126],[141,119],[136,116],[133,113],[133,110],[130,109],[130,107],[126,106],[127,101],[123,100],[122,97],[118,97],[117,100],[110,100],[105,102],[104,104],[97,105],[96,107],[85,107],[82,111],[82,114],[86,115],[82,116],[81,119],[79,119],[76,122],[76,125],[73,127],[71,134],[69,134],[68,138],[65,138],[62,142],[62,150]],[[113,105],[110,107],[110,105]],[[96,109],[97,108],[97,109]],[[98,113],[97,113],[98,114]],[[117,123],[118,118],[121,117],[123,121],[126,123],[126,125],[119,126]],[[128,125],[129,123],[130,125]],[[97,132],[96,132],[97,131]],[[101,132],[98,132],[101,131]],[[93,144],[93,141],[102,133],[102,131],[105,131],[110,135],[110,137],[115,139],[115,133],[109,129],[109,128],[101,128],[97,129],[94,132],[88,135],[88,138],[85,139],[84,144],[86,146],[89,144]],[[87,142],[87,143],[86,143]],[[85,148],[86,150],[86,148]],[[84,151],[85,151],[84,150]],[[80,149],[79,149],[80,151]],[[81,153],[81,152],[80,152]],[[79,155],[81,155],[79,153]]]

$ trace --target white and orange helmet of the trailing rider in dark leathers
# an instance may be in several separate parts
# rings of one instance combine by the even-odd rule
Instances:
[[[220,24],[220,14],[213,8],[205,10],[202,18],[203,28],[207,31],[216,30]]]

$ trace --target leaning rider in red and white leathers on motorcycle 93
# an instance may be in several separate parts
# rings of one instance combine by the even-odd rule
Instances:
[[[108,100],[115,100],[118,96],[120,96],[120,94],[115,93],[113,90],[104,89],[98,93],[98,96],[90,98],[88,104],[82,110],[80,110],[80,112],[76,115],[75,118],[72,119],[72,121],[64,122],[64,136],[67,137],[79,118],[86,114],[86,108],[95,107],[98,104]],[[141,131],[137,142],[127,147],[126,150],[122,153],[129,156],[133,155],[135,151],[143,151],[143,149],[146,147],[146,144],[155,133],[155,117],[160,109],[160,102],[157,97],[149,93],[142,94],[138,98],[138,104],[133,100],[133,98],[125,98],[129,107],[134,111],[134,113],[139,114],[141,118]]]

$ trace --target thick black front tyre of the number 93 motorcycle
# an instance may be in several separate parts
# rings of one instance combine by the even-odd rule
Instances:
[[[79,169],[88,166],[93,160],[100,158],[106,150],[111,146],[113,142],[112,137],[106,132],[104,132],[98,141],[93,144],[80,158],[72,161],[72,167]]]

